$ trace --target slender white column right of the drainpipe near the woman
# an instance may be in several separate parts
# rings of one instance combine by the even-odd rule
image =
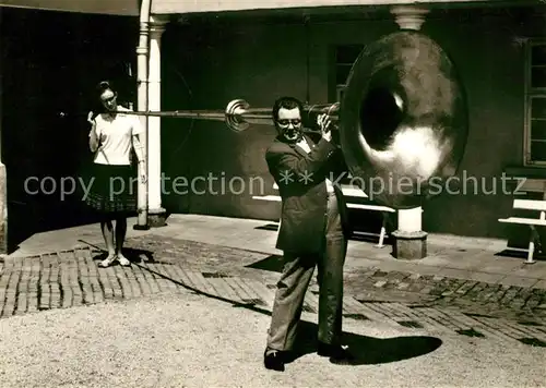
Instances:
[[[162,110],[162,35],[167,20],[150,17],[149,110]],[[166,210],[162,207],[162,118],[149,117],[147,137],[147,220],[150,227],[165,226]]]

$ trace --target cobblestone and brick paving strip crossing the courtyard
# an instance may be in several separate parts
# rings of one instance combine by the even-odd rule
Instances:
[[[98,268],[98,248],[1,264],[0,317],[141,298],[189,288],[271,310],[280,257],[171,238],[127,244],[131,267]],[[365,268],[346,274],[344,314],[395,326],[546,347],[546,290]],[[317,312],[311,284],[305,311]]]

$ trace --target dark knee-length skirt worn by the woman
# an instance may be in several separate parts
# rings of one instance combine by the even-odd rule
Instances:
[[[93,209],[126,217],[136,213],[138,179],[131,166],[92,163],[86,184],[84,202]]]

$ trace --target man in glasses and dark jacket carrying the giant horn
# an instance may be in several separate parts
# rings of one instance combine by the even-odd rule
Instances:
[[[343,266],[349,228],[343,194],[333,184],[334,170],[343,158],[332,143],[328,116],[318,118],[321,138],[316,143],[301,131],[301,112],[302,105],[296,98],[275,101],[273,120],[278,135],[265,154],[282,197],[276,247],[284,253],[284,268],[264,353],[265,367],[275,371],[284,371],[289,359],[314,266],[320,289],[318,353],[333,363],[352,359],[341,344]]]

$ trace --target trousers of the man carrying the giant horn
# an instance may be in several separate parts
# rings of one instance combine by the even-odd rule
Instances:
[[[287,351],[294,347],[297,325],[314,267],[319,284],[319,341],[339,344],[342,334],[343,266],[347,240],[343,234],[337,201],[329,194],[323,246],[317,253],[284,252],[284,268],[277,282],[268,348]],[[304,242],[302,242],[304,243]]]

